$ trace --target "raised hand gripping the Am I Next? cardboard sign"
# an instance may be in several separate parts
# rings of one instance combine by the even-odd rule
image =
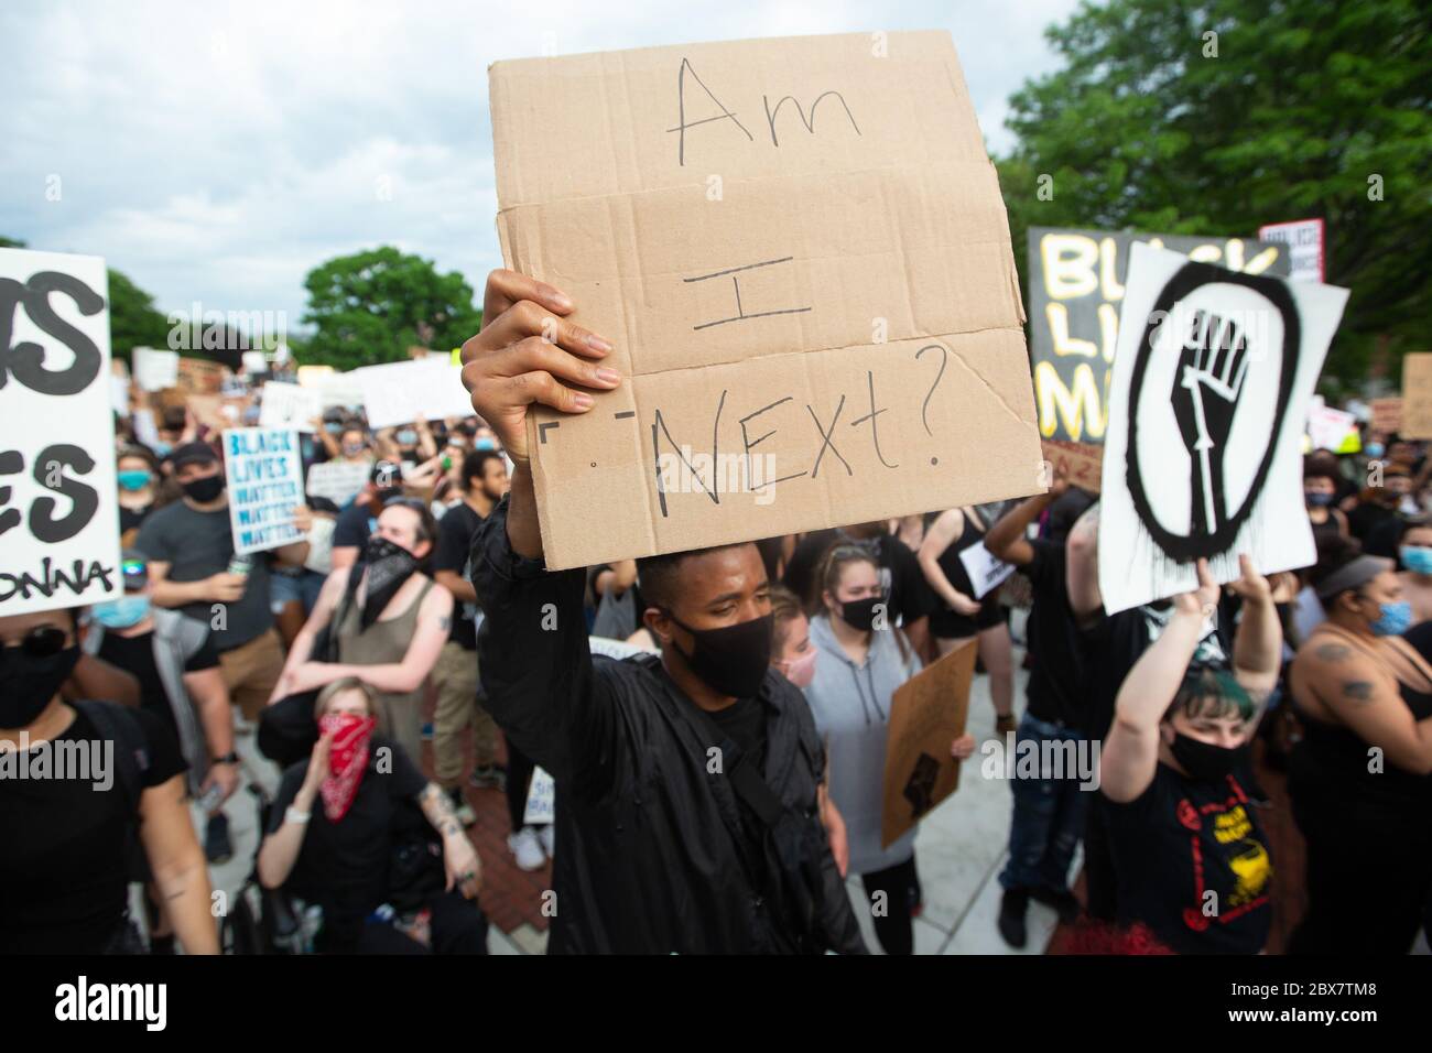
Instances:
[[[586,413],[593,400],[580,388],[621,383],[601,365],[611,344],[566,321],[571,311],[571,299],[546,282],[516,271],[487,275],[483,331],[463,345],[463,387],[514,461],[527,460],[528,405]]]

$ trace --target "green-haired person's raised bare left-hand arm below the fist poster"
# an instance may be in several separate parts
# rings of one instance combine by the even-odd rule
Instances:
[[[1199,560],[1199,589],[1174,597],[1163,635],[1128,670],[1114,702],[1114,723],[1104,736],[1100,787],[1111,801],[1137,798],[1158,766],[1158,722],[1173,705],[1203,636],[1204,612],[1219,602],[1219,586]]]

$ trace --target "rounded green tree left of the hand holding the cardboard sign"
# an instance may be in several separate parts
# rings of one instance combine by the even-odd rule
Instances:
[[[304,361],[337,370],[400,361],[412,345],[445,351],[481,324],[463,275],[390,245],[329,259],[304,287],[314,325]]]

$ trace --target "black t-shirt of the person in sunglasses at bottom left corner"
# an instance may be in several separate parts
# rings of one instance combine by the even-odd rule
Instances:
[[[179,744],[150,712],[117,716],[135,719],[149,744],[140,785],[158,787],[186,769]],[[29,762],[47,749],[52,778],[20,778],[24,755],[0,754],[0,954],[99,954],[127,907],[133,817],[115,751],[105,751],[84,713],[76,711],[47,746],[32,748]],[[59,758],[73,758],[79,748],[92,766],[66,774],[86,778],[53,778]]]

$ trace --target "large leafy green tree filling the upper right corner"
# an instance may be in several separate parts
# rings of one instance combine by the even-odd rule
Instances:
[[[1378,345],[1389,365],[1428,350],[1428,10],[1085,0],[1045,33],[1064,69],[1010,100],[1018,146],[1000,176],[1021,268],[1031,225],[1253,235],[1322,218],[1327,281],[1352,289],[1326,372],[1352,383]]]

